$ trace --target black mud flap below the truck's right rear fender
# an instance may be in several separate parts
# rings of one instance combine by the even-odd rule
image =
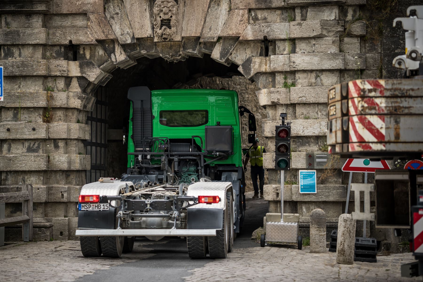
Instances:
[[[222,229],[223,209],[189,208],[187,229]]]

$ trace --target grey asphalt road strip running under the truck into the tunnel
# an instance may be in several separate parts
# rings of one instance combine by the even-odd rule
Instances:
[[[235,242],[235,249],[244,249],[259,246],[251,240],[251,233],[263,226],[263,216],[266,215],[268,205],[263,199],[251,199],[252,194],[247,194],[247,208],[242,232]],[[131,255],[137,256],[151,249],[152,257],[112,266],[107,270],[98,270],[93,275],[85,275],[76,281],[184,281],[182,277],[190,276],[188,272],[194,268],[201,268],[212,261],[210,258],[192,260],[188,257],[187,242],[185,239],[167,237],[160,241],[138,239],[135,241]]]

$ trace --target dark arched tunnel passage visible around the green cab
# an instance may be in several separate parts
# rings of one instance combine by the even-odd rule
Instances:
[[[137,65],[116,69],[112,79],[96,91],[96,106],[88,114],[91,125],[91,141],[87,142],[87,154],[91,155],[91,170],[87,171],[87,183],[99,177],[120,177],[126,172],[127,145],[123,135],[128,126],[128,89],[147,86],[150,90],[173,88],[231,89],[239,94],[240,104],[258,113],[258,135],[261,136],[261,120],[264,109],[258,105],[255,84],[248,81],[232,64],[225,66],[205,54],[203,58],[189,57],[185,61],[170,63],[161,57],[142,57]],[[247,104],[247,105],[246,105]],[[247,127],[246,120],[242,126]],[[244,124],[245,122],[245,124]],[[247,132],[246,130],[244,132]],[[246,133],[245,133],[246,134]],[[127,138],[127,137],[126,137]],[[243,143],[247,146],[246,136]]]

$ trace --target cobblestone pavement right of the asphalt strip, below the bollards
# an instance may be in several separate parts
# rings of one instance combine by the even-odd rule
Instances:
[[[227,260],[214,260],[191,270],[186,282],[199,281],[421,281],[401,277],[400,266],[414,261],[411,253],[378,256],[377,263],[335,263],[336,253],[310,254],[282,245],[236,249]],[[218,275],[217,275],[218,273]]]

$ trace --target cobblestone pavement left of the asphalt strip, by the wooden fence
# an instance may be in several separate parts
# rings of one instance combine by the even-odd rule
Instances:
[[[83,257],[79,241],[31,242],[0,249],[0,281],[74,281],[96,270],[153,256],[144,245],[134,247],[145,252],[119,259]]]

